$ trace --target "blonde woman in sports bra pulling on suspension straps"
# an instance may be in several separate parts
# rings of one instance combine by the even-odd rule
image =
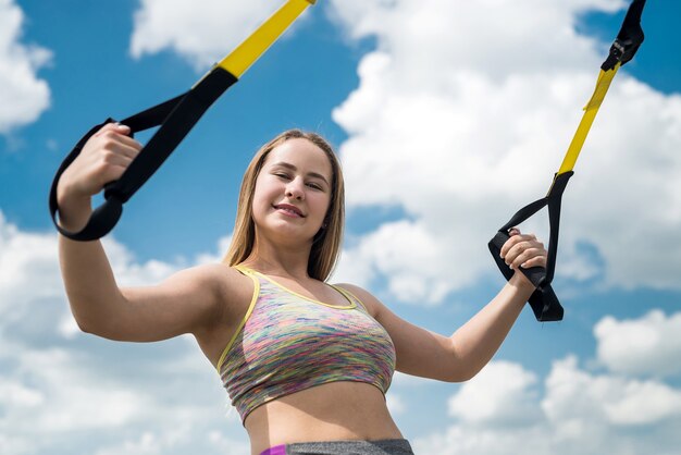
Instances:
[[[90,198],[121,176],[141,145],[108,124],[58,187],[60,223],[79,231]],[[62,274],[85,332],[151,342],[195,335],[220,372],[257,454],[410,454],[385,392],[395,369],[466,381],[498,349],[532,292],[516,273],[450,337],[416,327],[367,291],[325,283],[344,224],[340,167],[320,136],[286,132],[244,176],[225,263],[151,287],[119,288],[101,244],[60,236]],[[506,262],[545,266],[546,250],[515,230]]]

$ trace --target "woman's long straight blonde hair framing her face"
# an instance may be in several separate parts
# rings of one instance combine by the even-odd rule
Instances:
[[[313,279],[326,281],[338,261],[343,241],[343,226],[345,224],[343,172],[331,145],[320,135],[300,130],[288,130],[280,134],[262,146],[250,161],[242,181],[232,244],[222,261],[230,267],[236,266],[248,259],[252,253],[256,242],[256,225],[252,217],[256,181],[270,151],[286,140],[295,138],[307,139],[318,146],[324,151],[331,163],[332,182],[329,210],[326,211],[322,229],[314,236],[308,260],[308,274]]]

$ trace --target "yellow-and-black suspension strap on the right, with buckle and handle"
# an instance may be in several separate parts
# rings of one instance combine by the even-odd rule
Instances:
[[[499,270],[506,278],[510,280],[513,271],[504,262],[504,259],[499,257],[499,253],[504,243],[509,238],[508,231],[530,217],[536,213],[542,208],[548,206],[548,222],[549,222],[549,241],[548,241],[548,257],[546,260],[546,268],[532,267],[529,269],[521,268],[522,273],[530,279],[530,281],[536,286],[536,291],[530,297],[530,306],[534,311],[534,316],[538,321],[559,321],[562,319],[564,309],[558,302],[558,297],[554,293],[550,286],[550,282],[554,278],[554,270],[556,268],[556,253],[558,249],[558,228],[560,224],[560,200],[562,198],[562,192],[565,190],[568,180],[572,176],[572,169],[577,158],[584,145],[584,139],[589,134],[589,130],[596,118],[598,108],[605,98],[610,82],[615,77],[615,74],[621,65],[630,61],[641,42],[643,42],[643,30],[641,29],[641,12],[645,5],[645,0],[633,0],[622,27],[620,28],[617,39],[610,47],[610,52],[605,62],[600,65],[600,73],[598,81],[596,82],[596,88],[593,96],[584,107],[584,114],[582,121],[577,128],[577,133],[572,138],[572,143],[568,148],[566,157],[560,165],[560,169],[554,176],[554,181],[548,189],[548,194],[542,199],[520,209],[513,217],[504,224],[496,233],[494,238],[490,241],[490,251],[494,257]]]

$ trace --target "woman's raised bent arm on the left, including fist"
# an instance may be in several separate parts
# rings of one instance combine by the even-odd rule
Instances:
[[[64,171],[58,184],[62,228],[82,230],[91,213],[91,196],[117,180],[137,156],[141,145],[128,133],[115,124],[103,126]],[[59,256],[72,312],[85,332],[120,341],[159,341],[196,333],[222,317],[222,266],[184,270],[156,286],[120,288],[99,241],[74,242],[60,234]]]

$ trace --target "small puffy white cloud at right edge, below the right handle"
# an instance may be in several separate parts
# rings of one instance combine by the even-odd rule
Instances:
[[[653,310],[640,319],[603,318],[594,328],[597,358],[609,370],[656,377],[681,373],[681,312]]]

